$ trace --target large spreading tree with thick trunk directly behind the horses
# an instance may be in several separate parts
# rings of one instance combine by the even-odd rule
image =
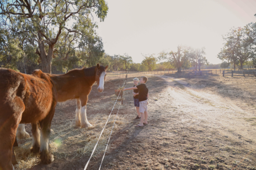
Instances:
[[[86,58],[103,54],[101,39],[94,30],[97,26],[90,17],[93,11],[103,21],[108,6],[104,0],[3,0],[0,24],[7,35],[4,43],[15,40],[26,56],[35,53],[43,72],[51,73],[53,58],[55,63],[66,65],[67,61],[84,63]],[[80,58],[77,49],[82,54],[78,55]]]

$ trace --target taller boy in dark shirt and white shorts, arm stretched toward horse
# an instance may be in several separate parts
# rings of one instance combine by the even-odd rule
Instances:
[[[140,119],[140,123],[136,125],[136,127],[141,127],[143,126],[143,124],[148,124],[147,123],[148,88],[145,84],[146,82],[147,82],[147,77],[142,76],[140,78],[140,85],[123,89],[123,91],[139,89],[139,104],[140,104],[139,111],[140,111],[141,119]]]

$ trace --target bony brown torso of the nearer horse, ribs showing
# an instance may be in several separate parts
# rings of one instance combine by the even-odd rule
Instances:
[[[12,69],[0,68],[0,80],[0,108],[7,105],[5,114],[10,110],[22,111],[21,123],[43,119],[51,109],[54,98],[56,99],[50,78],[41,70],[26,75]],[[21,106],[22,109],[18,109]]]

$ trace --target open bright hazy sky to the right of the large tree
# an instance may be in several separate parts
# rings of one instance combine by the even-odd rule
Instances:
[[[140,63],[142,54],[176,51],[183,44],[206,49],[210,63],[223,46],[222,35],[232,27],[256,22],[256,1],[247,0],[106,0],[109,12],[97,21],[105,53],[129,54]]]

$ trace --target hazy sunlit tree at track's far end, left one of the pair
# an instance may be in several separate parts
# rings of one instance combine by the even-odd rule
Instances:
[[[159,60],[167,59],[169,62],[172,62],[175,64],[178,72],[181,72],[181,66],[182,62],[184,60],[181,60],[183,57],[185,57],[187,49],[185,46],[178,45],[177,46],[177,52],[169,52],[169,53],[159,53]],[[181,62],[182,61],[182,62]]]

